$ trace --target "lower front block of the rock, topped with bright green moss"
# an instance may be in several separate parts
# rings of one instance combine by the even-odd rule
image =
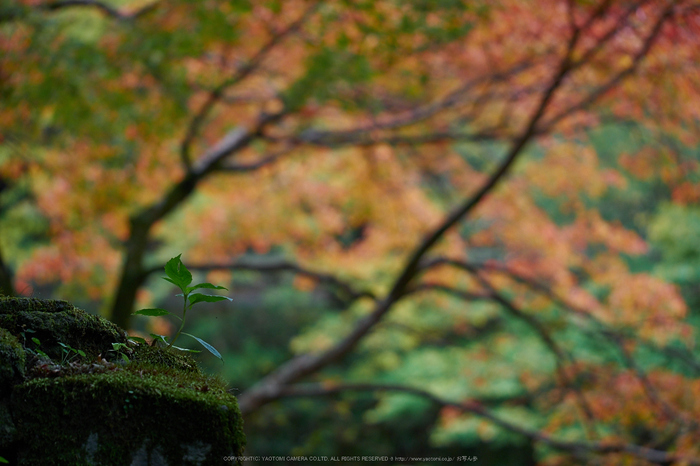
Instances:
[[[235,398],[214,379],[175,370],[34,379],[12,403],[28,442],[20,464],[41,464],[47,448],[57,465],[132,464],[154,452],[166,464],[220,464],[245,445]],[[199,460],[183,463],[192,451]]]

